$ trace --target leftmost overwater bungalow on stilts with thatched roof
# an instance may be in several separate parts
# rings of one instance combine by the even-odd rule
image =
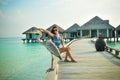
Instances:
[[[27,31],[23,32],[23,34],[26,35],[25,39],[22,39],[24,42],[36,42],[37,36],[39,34],[39,31],[36,27],[32,27],[28,29]]]

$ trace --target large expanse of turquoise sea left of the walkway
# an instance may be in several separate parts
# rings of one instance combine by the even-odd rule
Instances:
[[[0,80],[45,80],[51,55],[39,43],[0,39]]]

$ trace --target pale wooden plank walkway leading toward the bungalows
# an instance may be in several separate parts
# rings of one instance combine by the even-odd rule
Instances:
[[[77,63],[59,61],[57,80],[120,80],[120,59],[108,52],[96,52],[90,39],[71,46]]]

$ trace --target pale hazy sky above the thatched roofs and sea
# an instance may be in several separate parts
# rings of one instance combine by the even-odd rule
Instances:
[[[82,26],[95,16],[117,27],[120,0],[0,0],[0,38],[23,37],[22,33],[33,26]]]

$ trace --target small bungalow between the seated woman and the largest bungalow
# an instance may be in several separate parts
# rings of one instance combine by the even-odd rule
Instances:
[[[73,24],[71,27],[64,31],[65,38],[66,39],[78,38],[80,36],[80,32],[77,32],[79,28],[80,26],[77,23]]]

